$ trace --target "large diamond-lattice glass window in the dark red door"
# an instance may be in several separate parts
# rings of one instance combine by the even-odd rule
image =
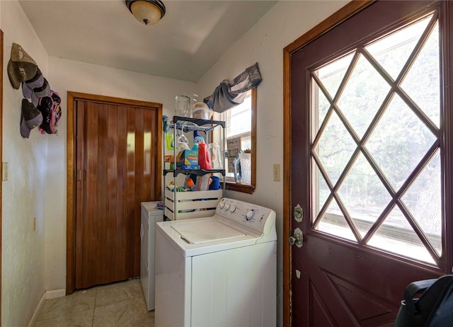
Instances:
[[[439,34],[430,13],[311,71],[315,230],[440,263]]]

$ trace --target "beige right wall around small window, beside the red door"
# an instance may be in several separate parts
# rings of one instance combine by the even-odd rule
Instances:
[[[277,212],[277,316],[282,326],[283,181],[273,181],[273,164],[283,167],[283,48],[348,1],[280,1],[261,18],[217,64],[197,82],[200,97],[223,79],[234,79],[258,62],[263,81],[257,89],[256,190],[252,195],[230,191],[227,197],[255,202]],[[283,177],[283,171],[281,176]],[[283,178],[281,178],[283,180]]]

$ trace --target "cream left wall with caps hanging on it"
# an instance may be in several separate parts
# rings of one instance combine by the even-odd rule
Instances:
[[[21,137],[21,89],[14,89],[6,67],[13,42],[20,44],[47,76],[47,52],[16,1],[0,1],[4,31],[3,182],[1,237],[1,326],[27,326],[45,291],[45,190],[47,140],[33,130]],[[36,230],[33,231],[33,217]]]

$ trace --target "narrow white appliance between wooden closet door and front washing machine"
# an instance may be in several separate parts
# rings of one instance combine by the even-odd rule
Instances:
[[[154,240],[156,222],[164,220],[164,210],[157,209],[159,202],[142,202],[142,226],[140,227],[140,282],[148,310],[154,310]]]

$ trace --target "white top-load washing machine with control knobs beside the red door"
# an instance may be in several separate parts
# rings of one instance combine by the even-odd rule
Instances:
[[[156,225],[156,327],[275,326],[276,292],[273,210],[224,198]]]

